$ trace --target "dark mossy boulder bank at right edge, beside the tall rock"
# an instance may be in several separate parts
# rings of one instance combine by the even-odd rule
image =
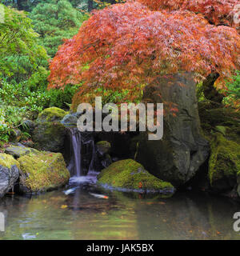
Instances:
[[[198,103],[204,136],[210,142],[206,179],[210,189],[240,197],[240,113],[213,102]]]

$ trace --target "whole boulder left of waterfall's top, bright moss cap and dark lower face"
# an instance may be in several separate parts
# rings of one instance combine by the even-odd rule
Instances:
[[[50,107],[38,115],[33,133],[34,147],[38,150],[62,152],[66,129],[60,122],[67,113],[57,107]]]

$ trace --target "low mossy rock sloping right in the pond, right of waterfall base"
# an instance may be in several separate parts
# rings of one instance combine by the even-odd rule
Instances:
[[[102,170],[98,184],[114,190],[174,194],[174,186],[154,177],[132,159],[114,162]]]

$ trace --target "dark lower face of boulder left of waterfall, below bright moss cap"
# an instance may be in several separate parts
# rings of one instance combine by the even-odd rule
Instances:
[[[62,152],[66,129],[60,122],[42,122],[33,134],[34,147],[37,150]]]

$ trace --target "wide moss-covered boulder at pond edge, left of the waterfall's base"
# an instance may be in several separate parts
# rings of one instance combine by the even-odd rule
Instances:
[[[20,191],[23,193],[54,190],[64,186],[70,178],[60,153],[41,152],[25,155],[20,163]]]

